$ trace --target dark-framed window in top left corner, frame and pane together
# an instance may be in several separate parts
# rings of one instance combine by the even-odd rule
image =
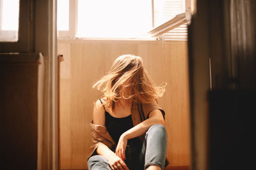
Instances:
[[[31,0],[0,0],[1,52],[32,52],[35,49],[34,6]]]

